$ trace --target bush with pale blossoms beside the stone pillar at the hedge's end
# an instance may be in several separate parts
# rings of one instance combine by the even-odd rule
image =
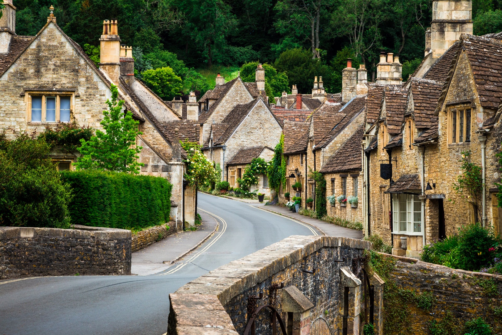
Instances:
[[[215,169],[206,155],[201,151],[201,146],[197,142],[180,141],[181,147],[187,153],[185,180],[189,185],[210,186],[219,180],[219,171]]]

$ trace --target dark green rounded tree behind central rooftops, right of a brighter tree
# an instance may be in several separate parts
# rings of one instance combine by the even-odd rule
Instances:
[[[310,92],[314,77],[322,76],[326,90],[332,91],[331,69],[320,59],[312,59],[305,49],[291,49],[283,52],[274,63],[278,72],[286,72],[289,82],[297,85],[299,92]]]

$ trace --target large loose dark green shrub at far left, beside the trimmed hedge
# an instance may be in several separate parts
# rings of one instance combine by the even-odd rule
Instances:
[[[0,136],[0,226],[69,228],[71,192],[43,139]]]

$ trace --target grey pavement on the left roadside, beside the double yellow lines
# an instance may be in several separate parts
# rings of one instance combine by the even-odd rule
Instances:
[[[206,241],[218,228],[216,220],[199,212],[202,225],[195,232],[178,232],[166,237],[160,242],[134,252],[132,256],[131,273],[147,276],[159,273],[172,266],[177,259],[185,256]]]

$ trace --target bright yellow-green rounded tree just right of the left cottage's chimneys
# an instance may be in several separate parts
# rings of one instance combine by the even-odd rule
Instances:
[[[143,71],[141,76],[147,86],[164,100],[171,100],[181,92],[181,78],[169,66]]]

